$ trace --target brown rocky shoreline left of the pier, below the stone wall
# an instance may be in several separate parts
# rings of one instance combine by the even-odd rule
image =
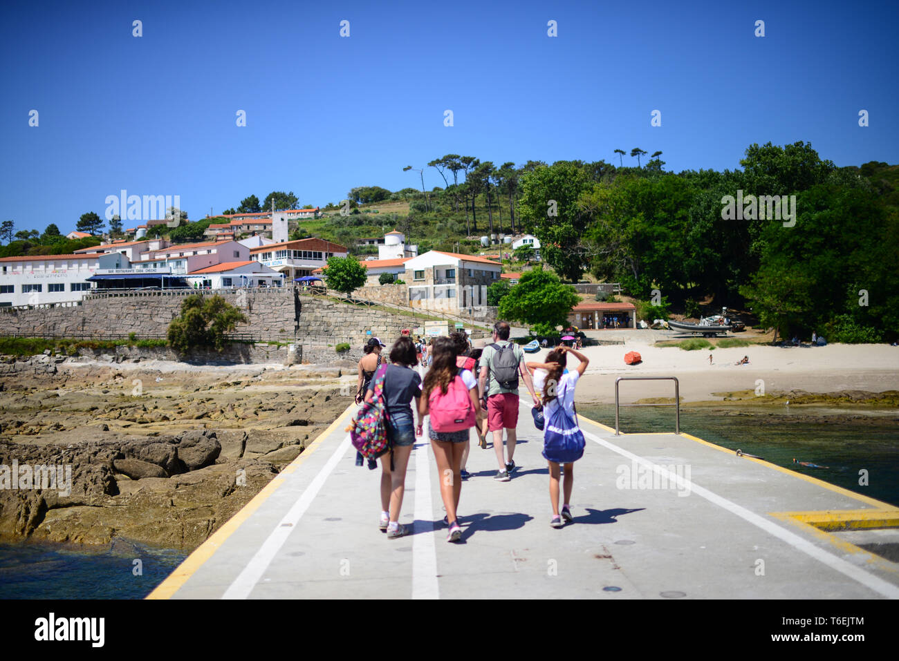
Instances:
[[[192,551],[352,402],[343,371],[3,358],[0,540]]]

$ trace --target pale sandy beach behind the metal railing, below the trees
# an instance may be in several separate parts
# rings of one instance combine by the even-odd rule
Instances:
[[[628,351],[639,352],[643,362],[626,365],[624,355]],[[619,376],[676,376],[681,401],[721,401],[725,392],[755,391],[761,384],[767,394],[899,390],[899,347],[886,344],[760,345],[684,351],[631,341],[585,347],[583,354],[590,358],[590,366],[578,386],[577,400],[584,402],[614,402],[615,379]],[[546,355],[547,350],[542,349],[526,359],[539,362]],[[749,356],[749,364],[734,365],[743,356]],[[664,381],[623,382],[620,392],[622,402],[674,395],[672,382]]]

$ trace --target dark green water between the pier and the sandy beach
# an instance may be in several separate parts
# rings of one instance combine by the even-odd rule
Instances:
[[[614,404],[579,405],[578,412],[615,427]],[[619,419],[625,433],[674,431],[672,407],[626,407]],[[895,409],[681,406],[681,432],[899,506],[897,422]],[[827,468],[798,466],[794,458]],[[868,486],[859,485],[862,470]]]

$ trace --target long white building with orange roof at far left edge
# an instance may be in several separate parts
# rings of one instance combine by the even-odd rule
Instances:
[[[87,278],[129,268],[119,252],[0,258],[0,307],[80,301],[92,288]]]

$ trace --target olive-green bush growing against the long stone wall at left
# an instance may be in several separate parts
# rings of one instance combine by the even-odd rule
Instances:
[[[246,322],[245,314],[221,296],[195,294],[182,301],[181,314],[169,324],[167,337],[172,348],[182,353],[193,348],[222,351],[227,345],[227,333],[234,332],[238,323]]]

